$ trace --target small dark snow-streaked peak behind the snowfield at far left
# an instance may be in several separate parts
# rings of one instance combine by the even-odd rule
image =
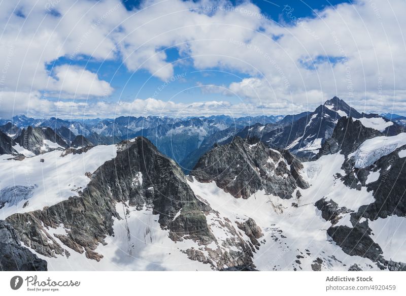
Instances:
[[[36,155],[57,148],[67,148],[66,142],[50,127],[23,128],[15,143]]]

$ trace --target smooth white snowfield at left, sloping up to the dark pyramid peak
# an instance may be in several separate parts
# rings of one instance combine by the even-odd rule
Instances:
[[[54,150],[42,155],[27,157],[23,160],[0,158],[0,189],[8,186],[36,186],[23,208],[26,200],[17,205],[0,209],[0,219],[14,213],[42,210],[70,196],[78,196],[90,179],[85,173],[93,173],[104,162],[116,156],[115,145],[99,145],[82,154],[67,154]],[[41,161],[43,159],[43,161]]]

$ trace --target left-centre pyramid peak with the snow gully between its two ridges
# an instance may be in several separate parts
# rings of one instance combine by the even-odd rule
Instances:
[[[87,153],[83,151],[83,157]],[[140,222],[146,217],[153,218],[151,222],[159,227]],[[255,221],[240,219],[236,224],[220,217],[195,195],[176,163],[142,137],[121,142],[117,156],[91,174],[89,184],[78,197],[43,210],[13,214],[7,221],[25,245],[50,260],[59,258],[65,262],[71,256],[78,258],[78,254],[85,254],[79,257],[82,260],[109,261],[112,258],[104,259],[98,248],[116,250],[117,245],[115,257],[129,262],[134,260],[131,253],[139,251],[134,244],[140,244],[137,235],[141,232],[151,247],[153,240],[161,238],[173,246],[172,252],[178,253],[174,256],[213,269],[254,268],[252,256],[256,248],[252,241],[260,236]],[[214,235],[218,227],[225,227],[226,237]],[[239,227],[241,232],[237,231]],[[119,241],[109,244],[115,237]],[[148,245],[143,242],[140,247]],[[162,252],[162,248],[158,249]]]

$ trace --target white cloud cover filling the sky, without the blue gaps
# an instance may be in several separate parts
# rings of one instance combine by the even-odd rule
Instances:
[[[49,65],[60,57],[118,59],[131,72],[144,69],[165,81],[174,75],[174,65],[163,51],[167,47],[189,56],[196,69],[219,67],[249,75],[228,86],[218,88],[213,81],[202,89],[208,94],[222,93],[225,99],[228,95],[244,98],[252,112],[263,111],[257,107],[267,108],[268,113],[300,112],[333,95],[360,111],[393,106],[406,111],[406,3],[402,0],[377,1],[374,6],[358,0],[327,7],[317,17],[284,26],[261,17],[251,3],[231,9],[225,1],[149,0],[130,12],[119,0],[21,0],[2,2],[0,8],[3,114],[21,106],[35,110],[31,103],[21,104],[22,96],[34,93],[37,103],[49,110],[66,108],[76,114],[86,108],[88,114],[98,116],[97,110],[90,110],[98,107],[97,101],[89,100],[86,106],[72,100],[71,105],[55,105],[39,93],[58,92],[65,101],[95,100],[113,92],[109,83],[100,80],[99,73],[76,66],[60,65],[49,71]],[[15,10],[25,17],[17,16]],[[185,110],[192,106],[151,100],[106,104],[112,104],[109,107],[117,114],[127,112],[128,107],[144,113],[155,112],[154,108],[176,113],[189,112]],[[215,112],[208,106],[201,108]]]

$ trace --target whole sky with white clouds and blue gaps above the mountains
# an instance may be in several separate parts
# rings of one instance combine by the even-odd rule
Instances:
[[[0,117],[406,112],[401,0],[0,6]]]

